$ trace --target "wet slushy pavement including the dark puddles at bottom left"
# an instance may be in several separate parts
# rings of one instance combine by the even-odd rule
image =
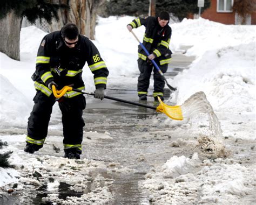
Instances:
[[[166,79],[174,77],[183,69],[187,69],[193,59],[187,58],[181,53],[174,54],[169,70],[165,74]],[[131,85],[129,90],[111,89],[110,87],[107,89],[106,95],[139,102],[136,88],[137,85],[135,84]],[[152,91],[149,90],[149,93]],[[169,96],[170,92],[165,89],[165,98]],[[151,204],[149,196],[139,188],[138,182],[144,180],[145,174],[152,168],[164,164],[173,154],[177,154],[177,150],[176,153],[173,153],[173,149],[170,149],[169,143],[175,137],[156,133],[150,134],[152,129],[161,130],[158,125],[149,124],[152,122],[151,118],[163,114],[152,109],[122,102],[107,99],[100,101],[92,96],[86,96],[86,98],[89,100],[87,100],[83,115],[85,120],[84,138],[90,141],[91,132],[107,133],[112,137],[112,139],[107,140],[91,140],[90,143],[83,145],[82,158],[101,161],[107,167],[106,169],[99,168],[89,175],[92,178],[101,175],[112,181],[111,186],[109,186],[113,195],[111,204]],[[152,96],[148,97],[147,102],[139,103],[157,106]],[[51,123],[61,124],[61,119],[56,119]],[[147,135],[147,137],[142,137],[143,135]],[[190,154],[191,151],[185,150],[184,152]],[[87,182],[83,192],[70,190],[68,183],[60,182],[57,188],[51,190],[50,193],[49,186],[51,186],[51,182],[31,193],[33,195],[37,193],[36,197],[33,197],[33,204],[45,204],[42,202],[42,198],[51,194],[58,195],[59,199],[64,200],[70,196],[80,197],[84,193],[90,193],[95,187],[103,187],[104,183],[93,180]],[[15,197],[12,200],[16,200]],[[11,199],[8,202],[10,203],[7,204],[11,204]]]

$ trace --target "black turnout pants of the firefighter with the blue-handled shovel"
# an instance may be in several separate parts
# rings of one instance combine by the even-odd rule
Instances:
[[[159,61],[156,60],[157,65],[159,66]],[[154,91],[153,96],[163,96],[164,95],[164,86],[165,81],[163,77],[161,77],[158,70],[153,66],[151,62],[144,61],[142,59],[138,59],[138,67],[140,71],[140,75],[138,77],[138,95],[147,95],[147,89],[150,84],[150,76],[153,70],[153,78],[154,78]],[[159,66],[161,72],[165,73],[168,68],[168,64],[163,66]]]

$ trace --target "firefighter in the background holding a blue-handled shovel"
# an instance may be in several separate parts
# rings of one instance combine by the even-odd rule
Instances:
[[[167,11],[161,11],[159,17],[137,18],[127,25],[129,31],[142,25],[146,27],[143,45],[151,53],[147,56],[143,48],[139,45],[138,67],[140,75],[138,77],[138,96],[140,100],[147,100],[147,89],[149,88],[152,70],[154,72],[154,100],[158,101],[157,96],[161,100],[164,100],[165,81],[158,70],[153,68],[151,60],[156,61],[161,72],[166,72],[172,54],[169,50],[172,34],[171,27],[168,25],[169,20],[169,13]]]

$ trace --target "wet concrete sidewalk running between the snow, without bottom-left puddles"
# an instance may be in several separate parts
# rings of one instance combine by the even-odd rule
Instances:
[[[173,54],[170,71],[165,74],[166,78],[174,77],[183,69],[187,69],[193,59],[182,53]],[[107,89],[107,95],[139,102],[136,88],[137,85],[134,84],[130,90]],[[154,105],[153,97],[149,96],[146,103]],[[167,143],[170,140],[168,136],[164,137],[165,140],[159,137],[142,139],[139,136],[148,133],[149,127],[154,126],[147,123],[150,122],[149,118],[162,114],[136,105],[107,99],[99,101],[94,98],[87,103],[84,112],[86,132],[109,133],[113,137],[113,140],[98,141],[85,147],[85,158],[104,161],[106,165],[114,162],[119,167],[134,170],[127,173],[100,171],[105,178],[113,179],[110,188],[114,196],[113,204],[150,204],[148,196],[139,189],[138,182],[144,180],[144,175],[150,171],[152,165],[164,164],[170,159],[173,151]]]

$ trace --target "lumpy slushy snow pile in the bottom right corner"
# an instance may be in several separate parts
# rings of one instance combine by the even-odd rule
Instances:
[[[237,204],[253,191],[256,178],[252,169],[232,159],[201,160],[174,156],[145,175],[140,183],[150,193],[150,201],[162,204]]]

